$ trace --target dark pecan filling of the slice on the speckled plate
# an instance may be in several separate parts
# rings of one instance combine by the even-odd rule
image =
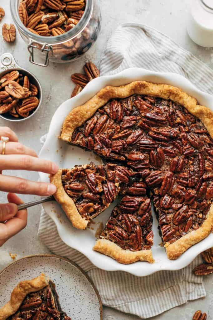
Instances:
[[[19,310],[7,320],[71,320],[62,311],[55,284],[49,285],[37,292],[27,294]]]

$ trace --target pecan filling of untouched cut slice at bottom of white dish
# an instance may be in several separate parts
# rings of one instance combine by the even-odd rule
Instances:
[[[118,244],[122,249],[140,251],[153,245],[151,202],[143,182],[134,182],[114,208],[100,239]]]

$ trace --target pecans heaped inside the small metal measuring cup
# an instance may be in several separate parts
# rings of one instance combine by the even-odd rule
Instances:
[[[39,104],[38,88],[18,70],[0,78],[0,114],[9,112],[15,118],[27,117]]]

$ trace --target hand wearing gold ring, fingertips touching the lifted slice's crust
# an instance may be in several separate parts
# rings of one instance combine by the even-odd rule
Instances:
[[[50,196],[56,192],[51,183],[35,182],[2,174],[3,170],[30,170],[54,174],[58,166],[51,161],[39,159],[34,150],[18,142],[18,137],[10,128],[0,127],[0,137],[9,138],[2,155],[3,143],[0,143],[0,190],[12,193]]]

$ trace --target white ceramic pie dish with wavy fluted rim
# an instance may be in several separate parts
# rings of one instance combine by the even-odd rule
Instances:
[[[57,109],[52,118],[47,139],[39,156],[56,162],[60,168],[71,168],[76,164],[87,164],[90,161],[99,164],[101,160],[92,152],[84,151],[79,147],[70,146],[64,141],[57,139],[62,124],[72,108],[84,104],[105,86],[119,86],[135,80],[146,80],[177,86],[196,98],[199,104],[209,107],[213,111],[213,97],[198,90],[183,76],[175,73],[152,72],[141,68],[126,69],[114,76],[102,76],[92,80],[80,94],[65,101]],[[49,180],[47,174],[44,173],[40,173],[40,179],[42,181]],[[105,212],[101,213],[93,220],[95,224],[91,224],[90,229],[86,230],[73,228],[66,218],[65,213],[56,202],[45,203],[43,204],[43,207],[50,218],[56,223],[59,236],[68,246],[82,252],[96,267],[108,271],[123,270],[135,276],[147,276],[159,270],[178,270],[186,267],[200,252],[213,246],[213,234],[210,234],[206,239],[189,248],[181,257],[179,257],[179,259],[169,260],[166,256],[165,249],[159,245],[161,243],[161,238],[157,229],[158,222],[153,211],[154,246],[152,247],[152,252],[155,263],[150,264],[148,262],[139,261],[130,265],[120,264],[116,260],[92,250],[95,244],[95,231],[99,227],[99,222],[103,222],[103,225],[105,225],[115,204],[116,202],[110,205]]]

